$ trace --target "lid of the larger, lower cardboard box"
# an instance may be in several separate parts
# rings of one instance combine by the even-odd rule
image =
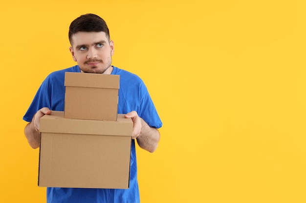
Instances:
[[[73,133],[93,135],[131,136],[133,122],[118,114],[117,121],[81,120],[64,118],[64,111],[52,111],[40,119],[40,131],[52,133]]]

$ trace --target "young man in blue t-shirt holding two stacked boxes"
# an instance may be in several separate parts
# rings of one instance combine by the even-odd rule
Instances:
[[[129,189],[47,188],[47,203],[139,203],[135,139],[140,148],[155,151],[162,122],[142,80],[111,66],[114,43],[106,22],[94,14],[82,15],[69,27],[70,52],[78,65],[47,76],[23,119],[24,133],[32,148],[40,147],[39,121],[51,111],[64,111],[65,72],[120,75],[118,113],[133,121]]]

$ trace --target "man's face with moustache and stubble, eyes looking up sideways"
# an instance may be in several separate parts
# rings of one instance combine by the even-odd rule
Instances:
[[[72,36],[70,52],[84,73],[110,74],[114,43],[105,32],[78,32]],[[110,73],[109,73],[110,72]]]

